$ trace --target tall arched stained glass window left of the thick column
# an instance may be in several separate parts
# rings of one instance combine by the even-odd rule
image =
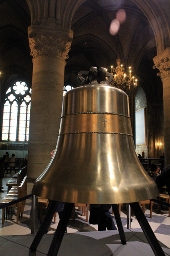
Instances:
[[[3,107],[3,141],[28,141],[31,88],[18,81],[7,89]]]

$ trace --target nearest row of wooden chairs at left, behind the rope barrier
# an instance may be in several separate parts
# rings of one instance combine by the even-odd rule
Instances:
[[[22,197],[25,197],[27,194],[27,176],[25,176],[19,186],[13,186],[9,191],[8,194],[3,198],[3,200],[0,202],[0,205],[4,203],[10,203],[13,200],[20,199]],[[22,217],[22,213],[24,211],[26,200],[23,200],[19,203],[15,203],[13,205],[10,205],[9,207],[3,208],[3,214],[2,214],[2,224],[4,224],[5,221],[5,210],[6,210],[6,219],[9,210],[11,207],[17,208],[17,214],[16,214],[16,223],[19,223],[19,217]]]

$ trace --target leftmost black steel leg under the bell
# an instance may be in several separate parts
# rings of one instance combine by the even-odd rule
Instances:
[[[30,250],[35,251],[37,249],[38,244],[42,240],[42,236],[44,235],[45,231],[47,230],[48,224],[52,220],[52,217],[55,214],[55,211],[56,211],[59,203],[60,202],[58,202],[58,201],[53,201],[51,203],[51,207],[49,208],[49,210],[48,210],[48,212],[45,216],[45,219],[43,220],[43,222],[42,222],[42,224],[41,224],[41,226],[40,226],[40,228],[39,228],[39,230],[38,230],[38,232],[37,232],[37,234],[36,234],[36,236],[35,236],[35,238],[32,242],[32,245],[29,248]]]

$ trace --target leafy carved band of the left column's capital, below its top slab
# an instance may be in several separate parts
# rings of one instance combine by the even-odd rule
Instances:
[[[54,35],[40,35],[38,33],[29,34],[29,48],[30,55],[33,58],[37,56],[58,56],[62,59],[68,59],[68,52],[71,48],[71,37],[54,36]]]

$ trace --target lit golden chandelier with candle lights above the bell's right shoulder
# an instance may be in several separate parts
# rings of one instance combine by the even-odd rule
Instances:
[[[136,94],[137,79],[135,79],[135,77],[132,76],[131,67],[129,67],[129,74],[126,75],[123,65],[120,65],[121,60],[118,58],[116,59],[116,62],[117,62],[116,68],[113,68],[113,66],[111,66],[111,75],[113,77],[113,80],[109,84],[114,85],[115,87],[126,92],[128,96],[131,96],[132,94]]]

